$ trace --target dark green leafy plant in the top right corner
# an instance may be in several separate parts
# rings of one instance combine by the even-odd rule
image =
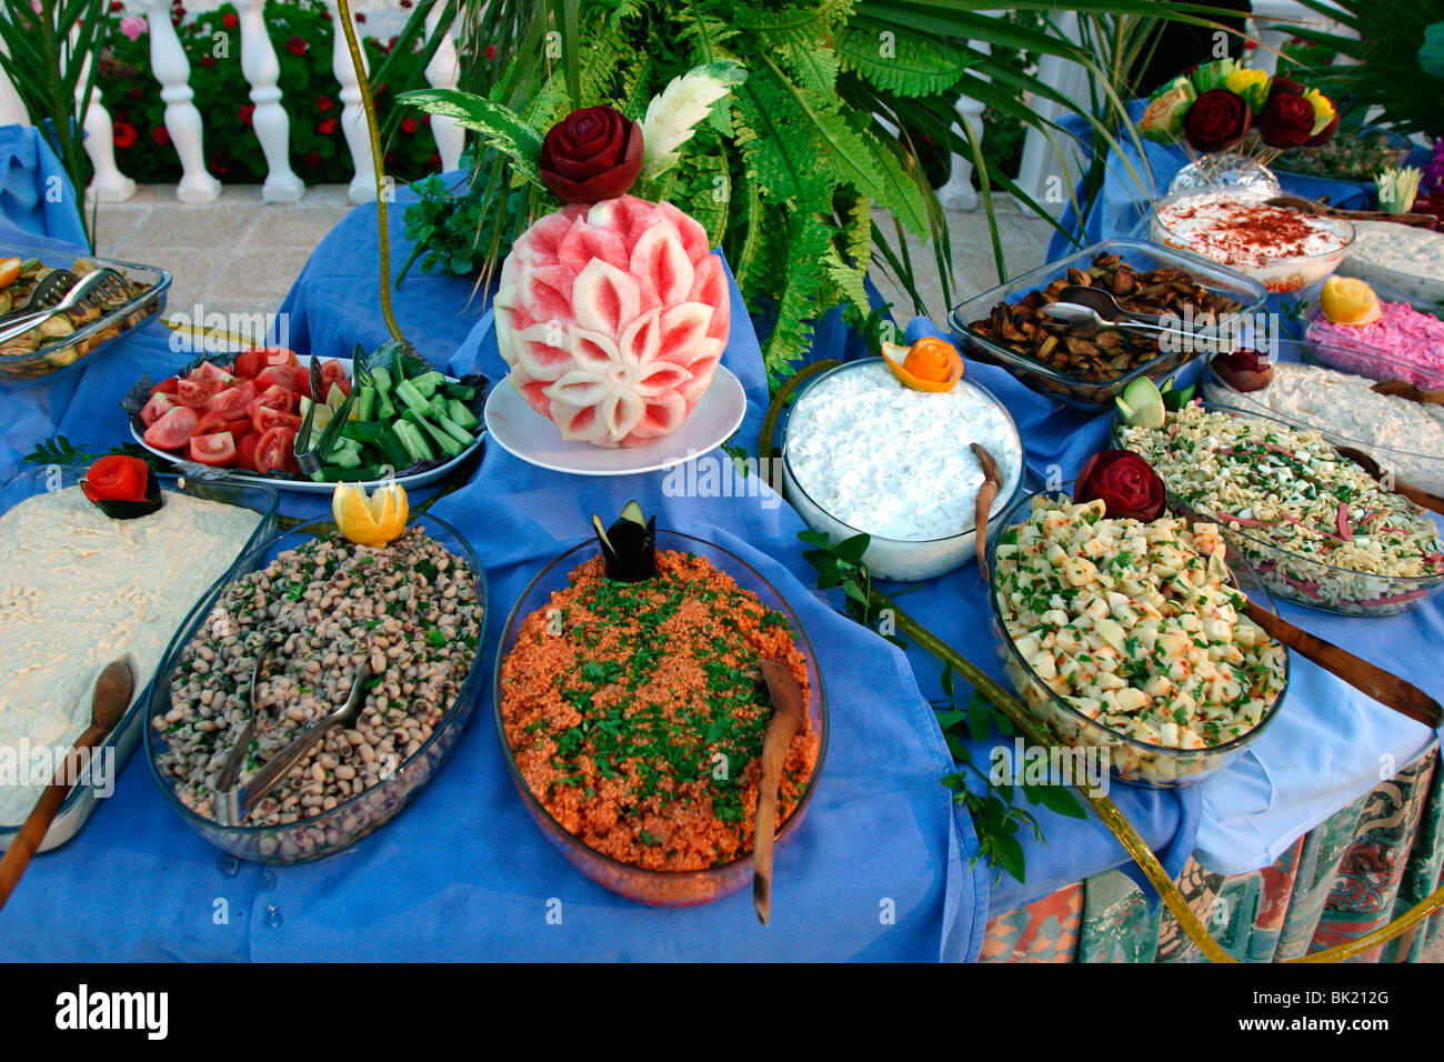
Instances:
[[[1405,134],[1444,136],[1444,74],[1424,68],[1421,49],[1431,25],[1444,20],[1444,0],[1300,0],[1350,33],[1297,27],[1300,39],[1347,62],[1310,68],[1310,84],[1363,116]]]

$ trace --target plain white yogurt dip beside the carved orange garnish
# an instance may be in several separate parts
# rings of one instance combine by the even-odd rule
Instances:
[[[973,506],[983,483],[970,444],[988,448],[1002,477],[996,514],[1022,478],[1012,418],[982,387],[904,387],[881,360],[820,377],[793,409],[784,446],[788,498],[835,539],[874,536],[874,575],[926,579],[975,556]]]

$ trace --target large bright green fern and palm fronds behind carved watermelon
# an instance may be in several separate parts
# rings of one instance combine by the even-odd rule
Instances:
[[[813,322],[823,312],[842,306],[853,324],[866,315],[869,269],[891,273],[921,311],[904,231],[930,243],[944,295],[952,298],[947,228],[920,140],[944,155],[973,156],[999,275],[1002,243],[991,189],[1012,192],[1047,217],[1011,178],[989,170],[970,130],[954,129],[960,94],[1050,136],[1057,126],[1024,95],[1053,100],[1084,113],[1100,142],[1116,144],[1080,103],[1018,69],[1024,52],[1061,55],[1086,68],[1096,68],[1095,59],[1057,35],[985,13],[986,1],[471,0],[468,10],[517,19],[516,55],[484,97],[533,130],[544,131],[572,110],[599,103],[641,118],[647,101],[689,69],[728,59],[747,68],[747,81],[726,107],[703,123],[680,163],[648,192],[697,218],[725,250],[767,335],[764,357],[777,383],[809,350]],[[1152,0],[1079,6],[1134,14],[1186,7]],[[1032,0],[1017,7],[1045,12],[1053,4]],[[530,17],[523,16],[526,9]],[[998,58],[970,40],[989,40]],[[500,134],[504,140],[504,130]],[[501,140],[492,143],[510,153]],[[478,157],[468,195],[487,201],[520,186],[501,155]],[[524,197],[518,225],[549,207],[544,194],[526,189]],[[874,223],[874,208],[891,214],[887,228]],[[484,280],[514,236],[503,228],[482,236]]]

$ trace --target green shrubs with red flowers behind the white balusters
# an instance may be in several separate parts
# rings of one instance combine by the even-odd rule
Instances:
[[[396,95],[425,82],[425,68],[438,42],[423,46],[420,33],[426,10],[442,1],[423,0],[391,40],[364,38],[362,42],[375,85],[386,166],[401,181],[440,169],[429,116],[410,114],[396,104]],[[455,7],[455,0],[451,3]],[[191,64],[195,105],[205,118],[206,169],[231,184],[258,184],[266,179],[266,156],[251,127],[256,108],[241,72],[237,12],[221,4],[182,22],[179,10],[183,9],[172,10],[172,22]],[[98,79],[114,121],[117,165],[140,182],[176,181],[180,160],[165,127],[160,85],[150,74],[149,30],[131,39],[121,29],[121,12],[113,10],[104,19],[105,51]],[[134,33],[134,23],[130,32]],[[292,169],[306,184],[348,182],[352,165],[341,130],[341,85],[332,72],[331,13],[321,0],[273,0],[266,4],[266,32],[280,62]]]

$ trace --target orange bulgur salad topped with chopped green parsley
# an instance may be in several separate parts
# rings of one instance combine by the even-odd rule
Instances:
[[[787,617],[706,558],[658,549],[654,574],[622,581],[593,556],[523,620],[500,669],[503,735],[530,793],[588,848],[647,870],[722,865],[752,847],[773,715],[762,659],[807,696]],[[819,750],[809,720],[787,751],[778,826]]]

